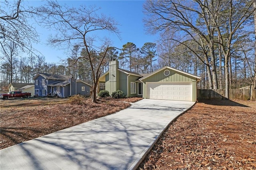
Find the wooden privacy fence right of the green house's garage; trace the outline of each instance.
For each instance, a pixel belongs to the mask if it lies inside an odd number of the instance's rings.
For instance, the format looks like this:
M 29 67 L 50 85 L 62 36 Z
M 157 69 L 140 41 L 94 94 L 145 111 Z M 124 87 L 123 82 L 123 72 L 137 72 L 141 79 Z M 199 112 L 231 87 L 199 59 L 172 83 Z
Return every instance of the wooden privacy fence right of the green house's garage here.
M 224 99 L 225 89 L 197 89 L 198 99 Z M 229 99 L 256 99 L 256 89 L 229 89 Z

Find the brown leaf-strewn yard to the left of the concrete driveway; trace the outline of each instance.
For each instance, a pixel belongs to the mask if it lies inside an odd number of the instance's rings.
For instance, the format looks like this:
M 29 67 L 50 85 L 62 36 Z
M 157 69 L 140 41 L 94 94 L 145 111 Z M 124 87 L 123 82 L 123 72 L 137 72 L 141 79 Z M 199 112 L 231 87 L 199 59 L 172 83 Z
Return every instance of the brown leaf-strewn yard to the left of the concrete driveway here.
M 142 98 L 28 98 L 0 100 L 0 149 L 103 117 Z M 78 104 L 80 102 L 80 104 Z

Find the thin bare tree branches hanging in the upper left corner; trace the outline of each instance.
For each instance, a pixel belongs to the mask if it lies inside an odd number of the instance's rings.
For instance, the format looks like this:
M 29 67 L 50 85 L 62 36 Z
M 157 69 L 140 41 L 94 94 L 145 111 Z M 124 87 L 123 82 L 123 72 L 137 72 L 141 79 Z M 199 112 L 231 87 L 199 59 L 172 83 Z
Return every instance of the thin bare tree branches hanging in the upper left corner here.
M 22 0 L 0 2 L 0 45 L 14 42 L 23 51 L 34 51 L 32 42 L 38 41 L 38 35 L 28 18 L 31 11 L 26 10 Z

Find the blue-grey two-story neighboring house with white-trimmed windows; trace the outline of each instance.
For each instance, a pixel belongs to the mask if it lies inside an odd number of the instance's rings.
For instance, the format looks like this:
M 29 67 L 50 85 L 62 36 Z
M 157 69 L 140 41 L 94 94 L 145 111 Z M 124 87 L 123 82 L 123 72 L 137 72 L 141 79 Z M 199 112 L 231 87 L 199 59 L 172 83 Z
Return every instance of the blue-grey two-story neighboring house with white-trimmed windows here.
M 81 80 L 76 80 L 67 75 L 37 73 L 34 76 L 35 95 L 57 95 L 68 97 L 72 95 L 90 96 L 91 85 Z

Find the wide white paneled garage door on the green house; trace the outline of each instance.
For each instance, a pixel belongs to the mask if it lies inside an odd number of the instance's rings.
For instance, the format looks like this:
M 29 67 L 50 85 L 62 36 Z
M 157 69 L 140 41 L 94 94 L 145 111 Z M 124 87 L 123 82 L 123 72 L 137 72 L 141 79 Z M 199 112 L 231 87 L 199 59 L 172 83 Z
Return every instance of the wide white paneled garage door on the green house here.
M 147 82 L 146 98 L 192 101 L 192 82 Z

